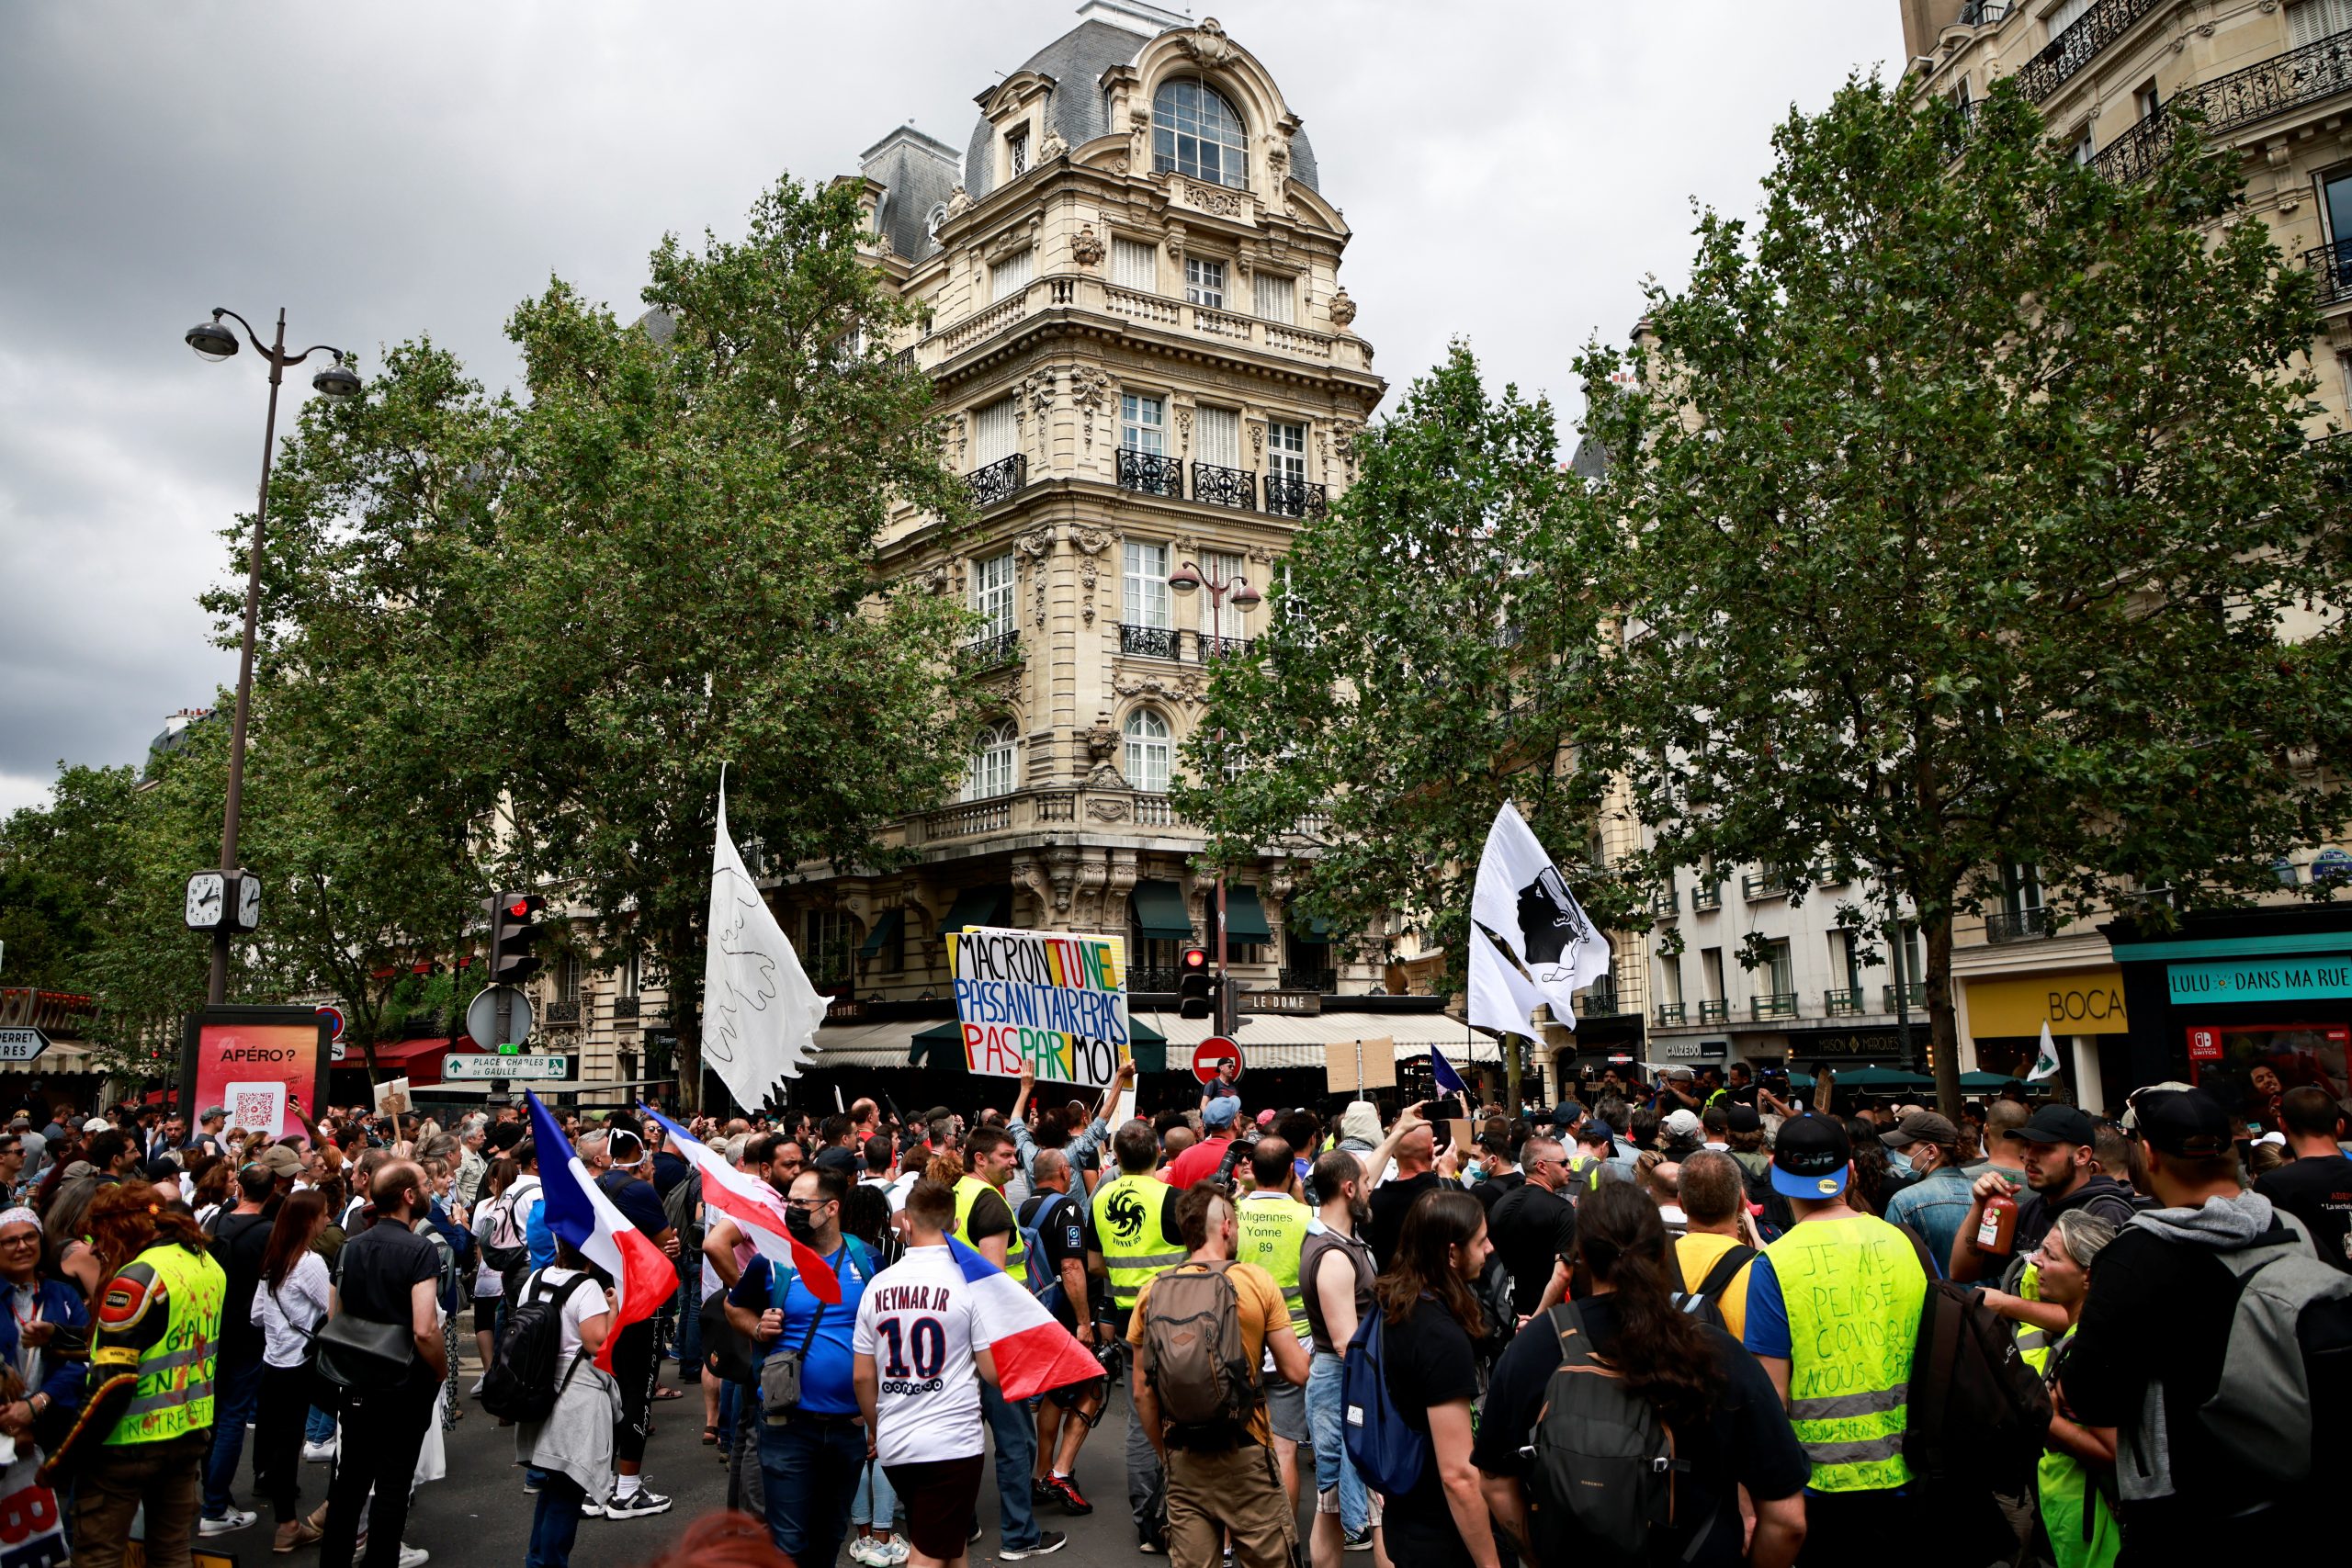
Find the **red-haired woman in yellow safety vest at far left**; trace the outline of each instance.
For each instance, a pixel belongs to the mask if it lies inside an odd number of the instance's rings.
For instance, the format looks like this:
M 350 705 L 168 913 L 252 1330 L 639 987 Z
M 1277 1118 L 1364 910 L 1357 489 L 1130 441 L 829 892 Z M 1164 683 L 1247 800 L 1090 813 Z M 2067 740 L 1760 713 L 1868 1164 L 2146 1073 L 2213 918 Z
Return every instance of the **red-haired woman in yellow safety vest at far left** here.
M 106 1269 L 89 1401 L 42 1481 L 73 1481 L 73 1561 L 120 1568 L 146 1507 L 151 1568 L 188 1568 L 228 1276 L 205 1232 L 146 1182 L 99 1192 L 89 1241 Z

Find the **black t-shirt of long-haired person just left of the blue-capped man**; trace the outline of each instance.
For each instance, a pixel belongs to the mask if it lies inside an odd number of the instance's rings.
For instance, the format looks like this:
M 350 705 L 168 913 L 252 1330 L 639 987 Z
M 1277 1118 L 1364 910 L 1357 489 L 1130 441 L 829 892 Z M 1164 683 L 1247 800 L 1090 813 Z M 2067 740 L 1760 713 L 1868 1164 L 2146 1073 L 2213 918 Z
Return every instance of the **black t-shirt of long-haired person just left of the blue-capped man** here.
M 1616 1302 L 1595 1295 L 1576 1302 L 1585 1333 L 1592 1335 L 1592 1354 L 1606 1356 L 1616 1347 Z M 1651 1542 L 1656 1563 L 1740 1563 L 1740 1502 L 1736 1486 L 1745 1486 L 1750 1497 L 1776 1502 L 1804 1490 L 1813 1467 L 1790 1432 L 1780 1396 L 1771 1387 L 1764 1368 L 1740 1349 L 1722 1328 L 1705 1328 L 1715 1349 L 1715 1361 L 1724 1368 L 1724 1399 L 1712 1420 L 1698 1432 L 1675 1432 L 1675 1458 L 1689 1460 L 1691 1472 L 1675 1481 L 1675 1519 L 1682 1523 L 1663 1542 Z M 1541 1316 L 1519 1331 L 1503 1359 L 1494 1368 L 1486 1389 L 1477 1443 L 1470 1460 L 1489 1476 L 1526 1479 L 1531 1465 L 1519 1458 L 1519 1446 L 1529 1441 L 1543 1413 L 1543 1392 L 1559 1368 L 1559 1331 L 1550 1316 Z M 1684 1556 L 1691 1530 L 1708 1514 L 1708 1542 L 1696 1554 Z

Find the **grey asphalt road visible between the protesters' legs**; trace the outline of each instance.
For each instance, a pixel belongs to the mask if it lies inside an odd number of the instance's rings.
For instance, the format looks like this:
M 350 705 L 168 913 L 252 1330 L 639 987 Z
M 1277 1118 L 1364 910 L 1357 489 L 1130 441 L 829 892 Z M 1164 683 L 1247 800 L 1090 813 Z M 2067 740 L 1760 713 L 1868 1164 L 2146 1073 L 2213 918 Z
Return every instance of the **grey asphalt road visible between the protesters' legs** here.
M 473 1340 L 466 1342 L 466 1363 L 459 1387 L 473 1387 L 480 1375 L 473 1361 Z M 663 1387 L 677 1387 L 677 1368 L 666 1366 Z M 727 1502 L 727 1467 L 720 1448 L 701 1441 L 701 1392 L 684 1387 L 684 1399 L 666 1399 L 654 1406 L 654 1439 L 644 1455 L 644 1479 L 673 1500 L 668 1514 L 652 1519 L 604 1521 L 583 1519 L 579 1542 L 572 1552 L 576 1568 L 640 1568 L 654 1561 L 677 1540 L 677 1535 L 701 1514 Z M 1127 1399 L 1112 1396 L 1103 1422 L 1077 1460 L 1077 1486 L 1094 1502 L 1094 1514 L 1070 1519 L 1056 1507 L 1040 1509 L 1047 1530 L 1063 1530 L 1070 1542 L 1054 1554 L 1056 1563 L 1167 1563 L 1160 1556 L 1136 1552 L 1134 1526 L 1127 1519 Z M 1301 1450 L 1308 1493 L 1301 1509 L 1301 1530 L 1315 1507 L 1312 1458 Z M 327 1467 L 303 1465 L 303 1512 L 327 1500 Z M 261 1519 L 235 1535 L 216 1535 L 200 1542 L 207 1552 L 233 1552 L 238 1568 L 313 1568 L 318 1547 L 303 1547 L 285 1559 L 270 1554 L 268 1505 L 259 1505 L 252 1493 L 252 1441 L 245 1446 L 245 1467 L 238 1476 L 238 1505 L 254 1509 Z M 997 1505 L 995 1474 L 981 1481 L 981 1540 L 971 1547 L 971 1559 L 997 1561 Z M 482 1406 L 466 1401 L 466 1415 L 449 1434 L 449 1476 L 433 1481 L 416 1493 L 409 1509 L 407 1544 L 433 1554 L 433 1568 L 520 1568 L 524 1544 L 532 1533 L 532 1497 L 522 1490 L 522 1469 L 515 1465 L 515 1432 L 499 1427 Z M 1305 1540 L 1305 1535 L 1301 1535 Z M 1037 1561 L 1037 1559 L 1030 1559 Z M 1350 1559 L 1369 1563 L 1371 1559 Z M 849 1563 L 844 1547 L 840 1563 Z M 809 1568 L 809 1566 L 802 1566 Z

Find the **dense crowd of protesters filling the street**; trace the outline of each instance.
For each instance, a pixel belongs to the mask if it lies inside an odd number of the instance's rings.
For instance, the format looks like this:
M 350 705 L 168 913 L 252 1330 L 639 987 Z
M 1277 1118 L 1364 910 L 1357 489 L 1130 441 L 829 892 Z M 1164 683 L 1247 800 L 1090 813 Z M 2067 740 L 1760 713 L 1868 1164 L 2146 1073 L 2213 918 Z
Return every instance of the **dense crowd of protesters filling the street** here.
M 1183 1568 L 1893 1547 L 2074 1568 L 2303 1540 L 2279 1530 L 2317 1526 L 2343 1448 L 2324 1340 L 2352 1321 L 2352 1159 L 2317 1086 L 2279 1095 L 2263 1143 L 2180 1084 L 2122 1119 L 2004 1093 L 1957 1121 L 1738 1065 L 1592 1077 L 1519 1114 L 1249 1107 L 1218 1079 L 1112 1124 L 1033 1088 L 1011 1112 L 694 1119 L 826 1288 L 708 1201 L 661 1121 L 564 1114 L 553 1154 L 675 1260 L 663 1309 L 626 1326 L 548 1227 L 550 1152 L 515 1112 L 296 1105 L 299 1138 L 219 1107 L 193 1128 L 19 1112 L 0 1434 L 38 1474 L 9 1476 L 96 1568 L 134 1516 L 176 1568 L 263 1505 L 278 1554 L 421 1568 L 412 1493 L 445 1432 L 494 1420 L 527 1568 L 564 1568 L 583 1519 L 673 1507 L 644 1455 L 654 1406 L 682 1401 L 729 1507 L 793 1563 L 962 1563 L 983 1523 L 1000 1561 L 1054 1554 L 1049 1521 L 1096 1509 L 1080 1453 L 1117 1422 L 1134 1549 Z M 1007 1399 L 974 1269 L 1033 1291 L 1096 1375 Z M 1926 1458 L 2016 1446 L 1971 1434 L 1983 1389 L 1917 1359 L 1936 1314 L 1994 1324 L 2027 1368 L 2020 1465 Z M 1597 1479 L 1628 1455 L 1649 1479 Z

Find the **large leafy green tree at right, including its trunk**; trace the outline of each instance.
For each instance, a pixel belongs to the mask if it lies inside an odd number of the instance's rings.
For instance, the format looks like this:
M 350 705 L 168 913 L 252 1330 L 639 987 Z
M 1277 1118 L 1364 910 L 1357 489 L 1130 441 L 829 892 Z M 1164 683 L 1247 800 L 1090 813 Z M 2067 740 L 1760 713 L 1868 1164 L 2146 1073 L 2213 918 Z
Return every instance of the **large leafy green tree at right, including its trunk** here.
M 2230 903 L 2343 818 L 2288 766 L 2352 719 L 2303 616 L 2345 590 L 2317 320 L 2192 129 L 2114 186 L 2006 85 L 1964 132 L 1872 80 L 1773 143 L 1757 228 L 1708 214 L 1646 343 L 1581 364 L 1628 458 L 1611 762 L 1653 875 L 1818 865 L 1917 910 L 1950 1105 L 1950 924 L 2004 865 L 2065 914 Z

